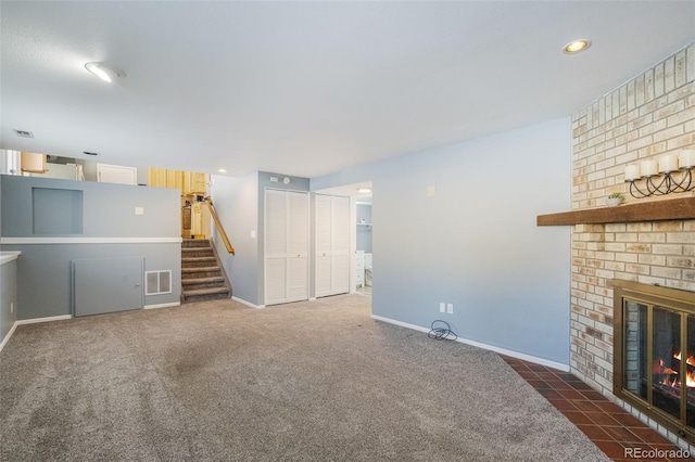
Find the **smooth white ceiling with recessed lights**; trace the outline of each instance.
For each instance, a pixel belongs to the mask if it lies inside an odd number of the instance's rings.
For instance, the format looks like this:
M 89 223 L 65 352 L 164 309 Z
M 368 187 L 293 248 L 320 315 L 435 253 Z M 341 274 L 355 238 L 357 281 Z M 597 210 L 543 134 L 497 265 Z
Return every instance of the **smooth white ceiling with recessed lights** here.
M 693 1 L 3 0 L 0 15 L 0 146 L 232 176 L 315 177 L 567 116 L 695 40 Z M 593 46 L 561 53 L 576 38 Z

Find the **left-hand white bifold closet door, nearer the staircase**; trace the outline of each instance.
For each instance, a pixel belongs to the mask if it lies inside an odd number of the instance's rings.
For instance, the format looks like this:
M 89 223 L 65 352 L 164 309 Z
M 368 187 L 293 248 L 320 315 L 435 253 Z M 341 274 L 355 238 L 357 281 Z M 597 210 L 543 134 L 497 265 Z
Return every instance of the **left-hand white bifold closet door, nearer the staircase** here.
M 308 194 L 265 191 L 265 305 L 308 299 Z

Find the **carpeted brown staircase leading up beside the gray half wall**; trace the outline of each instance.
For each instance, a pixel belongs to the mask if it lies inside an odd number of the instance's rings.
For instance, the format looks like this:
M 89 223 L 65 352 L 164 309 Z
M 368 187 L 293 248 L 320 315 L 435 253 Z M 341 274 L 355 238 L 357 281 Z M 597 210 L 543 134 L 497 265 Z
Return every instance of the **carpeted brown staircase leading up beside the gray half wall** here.
M 184 304 L 231 297 L 231 285 L 210 240 L 184 240 L 181 285 Z

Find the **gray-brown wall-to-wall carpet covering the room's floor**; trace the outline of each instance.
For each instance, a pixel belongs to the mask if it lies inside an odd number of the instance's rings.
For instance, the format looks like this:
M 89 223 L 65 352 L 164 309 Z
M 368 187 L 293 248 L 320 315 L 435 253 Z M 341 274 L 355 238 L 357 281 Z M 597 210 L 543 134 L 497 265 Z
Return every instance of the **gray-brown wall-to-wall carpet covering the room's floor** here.
M 495 354 L 374 321 L 370 301 L 18 326 L 0 460 L 608 460 Z

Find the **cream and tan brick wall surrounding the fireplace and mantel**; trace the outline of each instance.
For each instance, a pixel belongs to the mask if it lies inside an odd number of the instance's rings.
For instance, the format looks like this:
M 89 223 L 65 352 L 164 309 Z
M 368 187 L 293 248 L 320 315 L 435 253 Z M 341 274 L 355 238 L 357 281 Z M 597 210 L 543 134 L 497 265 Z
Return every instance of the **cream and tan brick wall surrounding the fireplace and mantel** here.
M 695 149 L 695 43 L 572 116 L 572 209 L 635 200 L 624 167 Z M 665 202 L 665 207 L 668 203 Z M 572 229 L 572 373 L 612 394 L 612 279 L 695 292 L 695 220 L 577 224 Z

